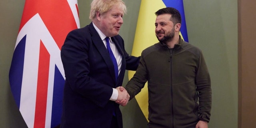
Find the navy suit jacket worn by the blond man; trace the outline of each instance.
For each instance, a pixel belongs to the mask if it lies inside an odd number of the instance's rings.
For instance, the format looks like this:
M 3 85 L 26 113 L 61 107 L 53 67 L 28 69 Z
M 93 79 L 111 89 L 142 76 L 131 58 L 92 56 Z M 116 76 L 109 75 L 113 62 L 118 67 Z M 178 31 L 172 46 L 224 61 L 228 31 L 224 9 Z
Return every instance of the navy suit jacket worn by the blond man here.
M 125 70 L 136 70 L 140 57 L 129 56 L 124 40 L 111 37 L 122 56 L 122 67 L 115 80 L 114 65 L 92 23 L 71 31 L 61 49 L 65 71 L 62 128 L 109 128 L 113 111 L 119 128 L 119 105 L 110 101 L 113 89 L 122 86 Z

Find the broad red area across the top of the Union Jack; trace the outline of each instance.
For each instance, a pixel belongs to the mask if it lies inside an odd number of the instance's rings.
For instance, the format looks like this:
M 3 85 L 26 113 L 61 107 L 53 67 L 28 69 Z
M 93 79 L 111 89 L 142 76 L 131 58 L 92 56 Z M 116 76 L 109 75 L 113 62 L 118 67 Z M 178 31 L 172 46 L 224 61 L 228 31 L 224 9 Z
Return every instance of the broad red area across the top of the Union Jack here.
M 26 0 L 20 22 L 20 30 L 37 13 L 61 49 L 68 32 L 77 28 L 76 20 L 70 10 L 68 1 Z

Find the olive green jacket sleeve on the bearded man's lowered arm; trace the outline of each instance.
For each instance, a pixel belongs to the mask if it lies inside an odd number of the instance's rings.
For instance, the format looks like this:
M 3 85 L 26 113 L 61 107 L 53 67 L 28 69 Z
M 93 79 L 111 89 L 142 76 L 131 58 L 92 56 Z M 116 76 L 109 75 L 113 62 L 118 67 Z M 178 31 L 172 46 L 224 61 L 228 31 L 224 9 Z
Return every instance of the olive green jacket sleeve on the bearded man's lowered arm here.
M 211 80 L 202 53 L 200 54 L 198 65 L 196 72 L 196 90 L 198 91 L 199 97 L 199 120 L 209 122 L 212 107 Z

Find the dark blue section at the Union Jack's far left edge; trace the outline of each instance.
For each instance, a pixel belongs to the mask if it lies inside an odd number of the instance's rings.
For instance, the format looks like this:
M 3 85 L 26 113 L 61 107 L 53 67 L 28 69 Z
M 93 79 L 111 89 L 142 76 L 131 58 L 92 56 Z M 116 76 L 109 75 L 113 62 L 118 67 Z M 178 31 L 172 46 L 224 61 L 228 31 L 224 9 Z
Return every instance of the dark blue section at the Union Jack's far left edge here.
M 9 72 L 10 87 L 12 90 L 14 100 L 19 108 L 24 67 L 25 46 L 26 35 L 22 38 L 22 40 L 20 40 L 20 42 L 18 43 L 14 50 L 12 64 Z

